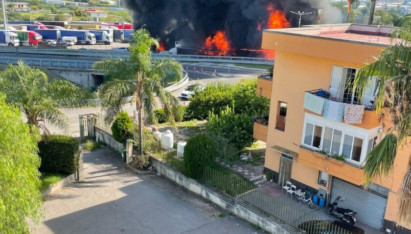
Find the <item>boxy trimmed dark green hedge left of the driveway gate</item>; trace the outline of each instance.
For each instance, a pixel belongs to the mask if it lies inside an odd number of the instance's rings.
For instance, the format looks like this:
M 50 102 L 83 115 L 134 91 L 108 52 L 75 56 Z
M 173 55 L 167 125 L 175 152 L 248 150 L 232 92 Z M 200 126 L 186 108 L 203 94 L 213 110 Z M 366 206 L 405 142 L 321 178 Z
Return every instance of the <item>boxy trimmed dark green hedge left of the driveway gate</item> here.
M 72 174 L 77 169 L 80 142 L 74 137 L 52 135 L 39 142 L 41 172 Z

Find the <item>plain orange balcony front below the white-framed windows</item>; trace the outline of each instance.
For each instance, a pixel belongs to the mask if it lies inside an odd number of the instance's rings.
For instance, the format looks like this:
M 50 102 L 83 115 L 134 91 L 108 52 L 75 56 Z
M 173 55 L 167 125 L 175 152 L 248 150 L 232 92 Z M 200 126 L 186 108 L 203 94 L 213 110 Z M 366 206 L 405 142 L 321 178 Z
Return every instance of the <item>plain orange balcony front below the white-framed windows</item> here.
M 350 183 L 362 185 L 364 170 L 356 165 L 333 159 L 302 146 L 298 152 L 298 162 Z

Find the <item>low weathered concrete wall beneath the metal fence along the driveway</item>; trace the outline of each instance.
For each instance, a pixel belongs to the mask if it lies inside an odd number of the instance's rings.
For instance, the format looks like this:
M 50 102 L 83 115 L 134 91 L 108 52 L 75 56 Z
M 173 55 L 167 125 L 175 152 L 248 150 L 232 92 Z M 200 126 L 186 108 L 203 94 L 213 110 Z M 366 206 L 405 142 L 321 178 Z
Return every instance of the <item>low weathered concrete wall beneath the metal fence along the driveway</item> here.
M 232 212 L 242 219 L 260 226 L 262 229 L 272 234 L 297 234 L 297 232 L 287 228 L 286 226 L 277 223 L 276 221 L 262 214 L 257 213 L 256 211 L 249 208 L 246 204 L 243 204 L 242 202 L 239 202 L 235 199 L 230 200 L 222 195 L 219 195 L 217 192 L 212 191 L 196 180 L 190 179 L 183 174 L 167 167 L 157 159 L 151 158 L 151 164 L 162 176 L 171 179 L 172 181 L 183 186 L 189 191 L 197 195 L 201 195 L 202 197 L 220 206 L 221 208 Z

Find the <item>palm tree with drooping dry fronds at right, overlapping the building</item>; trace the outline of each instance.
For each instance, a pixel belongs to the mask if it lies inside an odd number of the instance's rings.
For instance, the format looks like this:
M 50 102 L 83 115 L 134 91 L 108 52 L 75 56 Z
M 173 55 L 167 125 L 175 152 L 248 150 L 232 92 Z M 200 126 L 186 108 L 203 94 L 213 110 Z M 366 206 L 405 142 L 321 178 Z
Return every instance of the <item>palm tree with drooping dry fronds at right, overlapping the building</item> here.
M 365 64 L 355 79 L 356 89 L 360 90 L 364 90 L 369 77 L 381 79 L 375 104 L 377 112 L 388 116 L 390 121 L 383 125 L 388 130 L 387 135 L 366 158 L 365 186 L 376 176 L 386 176 L 393 171 L 397 149 L 411 134 L 411 16 L 404 17 L 402 28 L 392 35 L 393 45 L 374 58 L 373 63 Z M 397 224 L 410 224 L 411 157 L 398 199 Z

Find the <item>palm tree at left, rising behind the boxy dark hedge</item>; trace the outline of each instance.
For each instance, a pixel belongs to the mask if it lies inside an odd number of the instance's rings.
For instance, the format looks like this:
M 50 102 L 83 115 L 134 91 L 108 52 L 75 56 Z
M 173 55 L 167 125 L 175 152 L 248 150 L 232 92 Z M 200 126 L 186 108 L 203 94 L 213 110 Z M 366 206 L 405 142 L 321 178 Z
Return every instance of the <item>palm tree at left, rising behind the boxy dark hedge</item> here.
M 50 124 L 66 132 L 68 117 L 58 108 L 75 108 L 87 105 L 87 93 L 67 80 L 48 82 L 47 75 L 19 61 L 9 64 L 0 72 L 0 92 L 6 94 L 6 103 L 18 108 L 27 123 L 48 130 L 41 124 Z

